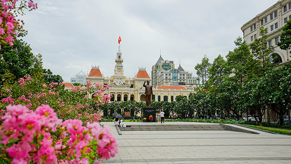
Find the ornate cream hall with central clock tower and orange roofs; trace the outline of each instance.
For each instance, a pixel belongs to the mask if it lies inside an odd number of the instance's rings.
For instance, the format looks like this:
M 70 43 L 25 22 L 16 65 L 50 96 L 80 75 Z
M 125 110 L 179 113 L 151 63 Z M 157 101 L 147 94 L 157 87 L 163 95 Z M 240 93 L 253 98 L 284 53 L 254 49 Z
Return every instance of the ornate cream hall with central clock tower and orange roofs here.
M 92 66 L 86 81 L 93 84 L 99 83 L 109 86 L 104 94 L 112 95 L 111 101 L 128 101 L 135 100 L 137 102 L 146 101 L 145 88 L 143 84 L 145 81 L 151 81 L 146 68 L 139 68 L 137 74 L 133 78 L 124 76 L 123 58 L 120 46 L 116 53 L 114 67 L 114 75 L 111 77 L 104 77 L 101 74 L 99 66 Z M 174 64 L 173 64 L 174 65 Z M 173 66 L 171 65 L 171 66 Z M 174 68 L 174 67 L 173 67 Z M 152 82 L 150 82 L 152 85 Z M 191 93 L 183 86 L 156 86 L 153 87 L 152 99 L 155 101 L 175 101 L 178 95 L 188 97 Z

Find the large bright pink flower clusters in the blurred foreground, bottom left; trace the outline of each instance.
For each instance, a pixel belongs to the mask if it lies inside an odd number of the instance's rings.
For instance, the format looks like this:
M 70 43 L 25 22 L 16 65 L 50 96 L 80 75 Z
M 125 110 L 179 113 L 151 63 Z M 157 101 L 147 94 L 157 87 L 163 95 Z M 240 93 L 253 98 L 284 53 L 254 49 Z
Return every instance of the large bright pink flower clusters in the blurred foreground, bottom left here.
M 118 152 L 108 127 L 101 128 L 97 122 L 82 126 L 77 119 L 63 122 L 53 111 L 49 105 L 35 111 L 24 105 L 8 105 L 0 130 L 4 159 L 12 164 L 88 164 L 86 155 L 90 153 L 99 164 L 99 159 L 107 160 Z M 51 135 L 53 132 L 58 135 Z

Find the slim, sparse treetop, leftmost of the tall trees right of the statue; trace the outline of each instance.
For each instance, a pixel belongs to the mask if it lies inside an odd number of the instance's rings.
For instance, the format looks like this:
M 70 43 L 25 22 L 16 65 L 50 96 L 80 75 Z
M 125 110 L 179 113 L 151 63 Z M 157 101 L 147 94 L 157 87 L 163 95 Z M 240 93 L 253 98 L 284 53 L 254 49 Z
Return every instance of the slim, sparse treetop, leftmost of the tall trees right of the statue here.
M 195 66 L 195 70 L 197 71 L 197 76 L 199 80 L 202 80 L 202 83 L 207 85 L 207 81 L 209 78 L 209 68 L 210 68 L 209 59 L 206 55 L 202 58 L 201 64 L 197 64 Z

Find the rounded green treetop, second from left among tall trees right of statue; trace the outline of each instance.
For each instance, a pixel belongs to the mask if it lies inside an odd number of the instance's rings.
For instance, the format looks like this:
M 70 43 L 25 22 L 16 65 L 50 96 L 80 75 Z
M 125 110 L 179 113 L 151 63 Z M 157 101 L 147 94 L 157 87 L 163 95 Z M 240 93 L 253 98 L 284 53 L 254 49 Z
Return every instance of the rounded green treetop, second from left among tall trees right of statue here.
M 218 86 L 229 75 L 229 68 L 221 55 L 214 59 L 209 68 L 209 85 Z

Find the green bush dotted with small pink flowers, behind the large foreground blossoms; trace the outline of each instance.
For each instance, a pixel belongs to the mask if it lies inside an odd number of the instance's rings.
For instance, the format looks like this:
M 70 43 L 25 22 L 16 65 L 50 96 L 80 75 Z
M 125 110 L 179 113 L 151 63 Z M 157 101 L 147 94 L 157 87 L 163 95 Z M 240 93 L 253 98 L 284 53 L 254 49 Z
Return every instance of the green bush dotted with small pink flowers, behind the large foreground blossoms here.
M 102 95 L 106 89 L 109 89 L 107 85 L 93 86 L 87 82 L 84 87 L 76 86 L 68 91 L 61 83 L 46 84 L 25 76 L 15 84 L 0 88 L 0 110 L 5 113 L 5 107 L 9 104 L 23 104 L 30 110 L 48 104 L 55 109 L 58 118 L 80 119 L 86 125 L 87 122 L 92 123 L 101 119 L 100 114 L 94 109 L 104 102 L 109 102 L 110 96 Z M 90 98 L 90 95 L 93 95 L 93 98 Z

